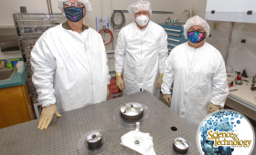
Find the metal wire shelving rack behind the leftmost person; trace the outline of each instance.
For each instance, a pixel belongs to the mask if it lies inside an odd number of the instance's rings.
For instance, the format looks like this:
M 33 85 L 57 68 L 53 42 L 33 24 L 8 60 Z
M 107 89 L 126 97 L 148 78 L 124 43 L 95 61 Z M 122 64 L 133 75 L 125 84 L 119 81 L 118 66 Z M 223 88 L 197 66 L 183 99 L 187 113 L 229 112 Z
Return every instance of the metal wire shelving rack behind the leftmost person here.
M 30 90 L 29 96 L 32 98 L 33 104 L 38 105 L 37 90 L 32 82 L 33 72 L 30 65 L 30 53 L 35 46 L 37 39 L 47 31 L 48 28 L 58 26 L 66 20 L 62 14 L 13 14 L 13 18 L 22 57 L 29 67 L 29 74 L 27 77 Z M 38 109 L 36 107 L 35 110 L 37 113 Z

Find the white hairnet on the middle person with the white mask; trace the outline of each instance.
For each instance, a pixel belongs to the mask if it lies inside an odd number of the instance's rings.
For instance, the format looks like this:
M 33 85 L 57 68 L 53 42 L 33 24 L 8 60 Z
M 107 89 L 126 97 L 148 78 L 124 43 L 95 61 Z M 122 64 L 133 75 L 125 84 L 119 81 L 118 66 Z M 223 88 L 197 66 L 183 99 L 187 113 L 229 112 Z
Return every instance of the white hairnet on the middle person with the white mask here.
M 152 14 L 151 5 L 148 1 L 139 0 L 132 5 L 129 5 L 127 9 L 129 14 L 132 15 L 133 19 L 135 18 L 134 14 L 141 10 L 147 10 L 150 15 Z

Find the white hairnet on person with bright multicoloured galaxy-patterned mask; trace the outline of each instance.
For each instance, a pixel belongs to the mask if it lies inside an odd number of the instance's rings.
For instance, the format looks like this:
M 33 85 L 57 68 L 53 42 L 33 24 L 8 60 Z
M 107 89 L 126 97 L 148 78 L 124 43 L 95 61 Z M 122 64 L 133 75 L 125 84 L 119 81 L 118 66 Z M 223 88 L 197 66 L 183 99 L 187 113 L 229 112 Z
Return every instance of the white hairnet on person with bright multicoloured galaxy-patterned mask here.
M 188 19 L 186 24 L 184 25 L 184 36 L 186 39 L 187 39 L 187 31 L 191 26 L 201 26 L 206 31 L 207 36 L 209 36 L 210 27 L 208 23 L 200 16 L 195 15 L 190 19 Z

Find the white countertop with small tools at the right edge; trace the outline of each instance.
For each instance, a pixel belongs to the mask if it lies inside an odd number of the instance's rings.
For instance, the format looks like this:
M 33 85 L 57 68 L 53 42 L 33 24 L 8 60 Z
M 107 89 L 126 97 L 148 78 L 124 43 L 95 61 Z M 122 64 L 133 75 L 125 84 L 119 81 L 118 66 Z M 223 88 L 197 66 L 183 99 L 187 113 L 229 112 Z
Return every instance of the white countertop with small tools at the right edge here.
M 228 73 L 229 82 L 237 77 L 236 73 Z M 251 78 L 244 78 L 249 81 L 249 83 L 243 81 L 242 85 L 235 85 L 235 87 L 229 88 L 229 98 L 233 99 L 240 104 L 253 109 L 256 111 L 256 91 L 251 91 Z M 233 89 L 238 89 L 236 91 L 230 91 Z

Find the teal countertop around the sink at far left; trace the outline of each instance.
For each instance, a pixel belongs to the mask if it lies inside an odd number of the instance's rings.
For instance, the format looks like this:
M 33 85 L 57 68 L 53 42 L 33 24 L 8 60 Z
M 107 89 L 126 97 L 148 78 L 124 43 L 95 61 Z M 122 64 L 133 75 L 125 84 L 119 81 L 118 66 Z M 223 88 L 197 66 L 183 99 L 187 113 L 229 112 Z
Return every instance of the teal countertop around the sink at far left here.
M 12 79 L 0 81 L 0 88 L 10 88 L 10 87 L 24 85 L 27 80 L 28 72 L 29 71 L 28 71 L 27 64 L 25 64 L 20 73 L 18 73 L 16 70 L 16 73 Z

